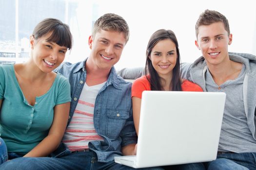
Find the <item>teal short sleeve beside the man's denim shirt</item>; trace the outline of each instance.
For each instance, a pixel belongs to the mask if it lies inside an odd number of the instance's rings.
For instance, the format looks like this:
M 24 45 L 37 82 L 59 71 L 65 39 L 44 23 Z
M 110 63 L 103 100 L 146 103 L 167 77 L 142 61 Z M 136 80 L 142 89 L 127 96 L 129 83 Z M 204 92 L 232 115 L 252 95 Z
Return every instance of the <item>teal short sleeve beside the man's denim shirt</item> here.
M 61 81 L 61 85 L 59 85 L 56 105 L 71 102 L 70 84 L 66 78 L 61 77 L 64 81 Z

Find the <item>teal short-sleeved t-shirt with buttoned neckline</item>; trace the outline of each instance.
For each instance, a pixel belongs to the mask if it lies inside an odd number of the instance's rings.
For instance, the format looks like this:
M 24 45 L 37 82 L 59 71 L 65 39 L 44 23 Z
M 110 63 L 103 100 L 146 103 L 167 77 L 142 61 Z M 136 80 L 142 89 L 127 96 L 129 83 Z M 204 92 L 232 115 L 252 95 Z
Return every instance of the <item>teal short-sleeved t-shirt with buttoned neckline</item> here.
M 32 106 L 21 91 L 14 64 L 3 64 L 0 65 L 0 100 L 0 136 L 9 153 L 26 154 L 48 135 L 54 107 L 71 101 L 70 84 L 58 73 L 51 88 L 36 97 Z

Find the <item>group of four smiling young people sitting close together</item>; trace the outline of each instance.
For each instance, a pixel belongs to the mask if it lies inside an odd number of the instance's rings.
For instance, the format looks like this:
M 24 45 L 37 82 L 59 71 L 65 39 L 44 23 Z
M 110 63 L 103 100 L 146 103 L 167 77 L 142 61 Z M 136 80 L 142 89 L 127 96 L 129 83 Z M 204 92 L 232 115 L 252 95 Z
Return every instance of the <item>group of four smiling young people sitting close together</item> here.
M 226 93 L 219 152 L 212 162 L 145 169 L 255 170 L 256 57 L 228 52 L 232 34 L 217 11 L 199 16 L 196 35 L 202 56 L 193 64 L 180 64 L 176 35 L 158 30 L 146 49 L 146 75 L 140 68 L 117 73 L 129 39 L 122 17 L 97 19 L 91 53 L 76 64 L 61 64 L 72 47 L 69 27 L 41 21 L 30 37 L 31 58 L 0 65 L 0 169 L 132 170 L 114 156 L 136 154 L 142 91 L 165 90 Z M 142 77 L 132 85 L 118 74 Z

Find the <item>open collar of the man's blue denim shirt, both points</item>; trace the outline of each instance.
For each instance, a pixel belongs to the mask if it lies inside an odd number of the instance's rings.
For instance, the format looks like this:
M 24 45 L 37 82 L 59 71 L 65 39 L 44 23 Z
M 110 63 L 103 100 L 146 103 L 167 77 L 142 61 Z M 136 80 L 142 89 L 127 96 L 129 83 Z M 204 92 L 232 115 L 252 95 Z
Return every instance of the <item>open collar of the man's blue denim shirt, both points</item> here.
M 88 58 L 86 58 L 83 62 L 81 62 L 79 64 L 79 66 L 73 71 L 73 73 L 77 73 L 79 72 L 81 69 L 82 71 L 85 71 L 86 73 L 86 69 L 85 69 L 85 63 L 87 61 Z M 109 76 L 108 76 L 108 80 L 106 82 L 106 87 L 109 85 L 113 85 L 115 88 L 117 89 L 121 89 L 122 87 L 119 85 L 119 79 L 118 79 L 118 75 L 117 75 L 117 71 L 114 68 L 114 66 L 111 68 Z

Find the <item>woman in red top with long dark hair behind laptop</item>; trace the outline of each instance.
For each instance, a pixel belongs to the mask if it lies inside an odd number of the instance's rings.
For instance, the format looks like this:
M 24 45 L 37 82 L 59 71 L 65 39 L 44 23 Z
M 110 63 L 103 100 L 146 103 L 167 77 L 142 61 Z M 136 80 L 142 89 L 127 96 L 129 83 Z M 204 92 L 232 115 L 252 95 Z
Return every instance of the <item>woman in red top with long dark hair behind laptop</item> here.
M 138 134 L 141 95 L 144 90 L 203 91 L 180 78 L 180 56 L 176 35 L 171 30 L 158 30 L 149 39 L 146 51 L 146 75 L 132 86 L 133 119 Z

